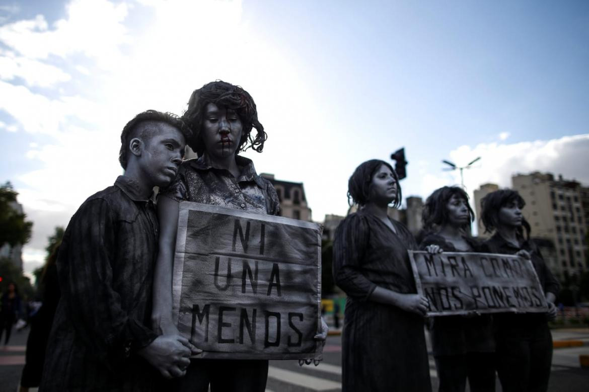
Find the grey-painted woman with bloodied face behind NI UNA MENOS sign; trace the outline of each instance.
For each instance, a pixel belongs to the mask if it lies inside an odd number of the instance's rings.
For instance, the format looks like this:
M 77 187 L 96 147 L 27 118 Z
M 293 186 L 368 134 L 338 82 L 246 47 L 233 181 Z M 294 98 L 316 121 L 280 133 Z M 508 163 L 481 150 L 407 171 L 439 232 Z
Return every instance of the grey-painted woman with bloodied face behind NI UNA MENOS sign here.
M 203 204 L 276 215 L 280 204 L 270 181 L 260 177 L 253 162 L 237 152 L 262 152 L 266 132 L 257 119 L 252 96 L 239 86 L 216 81 L 193 92 L 183 119 L 193 130 L 188 145 L 198 159 L 184 161 L 170 187 L 160 192 L 160 251 L 154 278 L 156 327 L 178 333 L 172 320 L 172 266 L 178 224 L 178 202 Z M 252 135 L 256 128 L 256 136 Z M 252 391 L 266 389 L 267 360 L 191 360 L 178 391 Z

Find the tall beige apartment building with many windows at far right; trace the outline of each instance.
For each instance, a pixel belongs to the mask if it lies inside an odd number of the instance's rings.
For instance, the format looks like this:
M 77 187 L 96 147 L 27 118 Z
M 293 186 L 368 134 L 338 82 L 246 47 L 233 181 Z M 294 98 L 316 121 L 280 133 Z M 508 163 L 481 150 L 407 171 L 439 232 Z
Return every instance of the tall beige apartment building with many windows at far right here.
M 557 262 L 549 264 L 552 271 L 562 277 L 587 270 L 587 222 L 581 184 L 540 172 L 517 174 L 511 180 L 513 189 L 526 202 L 522 212 L 530 222 L 532 235 L 554 244 Z

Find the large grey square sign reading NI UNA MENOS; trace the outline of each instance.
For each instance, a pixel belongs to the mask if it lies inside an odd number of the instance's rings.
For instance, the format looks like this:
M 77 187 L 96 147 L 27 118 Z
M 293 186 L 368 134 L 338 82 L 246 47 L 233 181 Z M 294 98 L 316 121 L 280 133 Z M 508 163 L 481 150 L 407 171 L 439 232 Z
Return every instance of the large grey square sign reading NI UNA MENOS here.
M 320 354 L 320 225 L 180 202 L 173 301 L 199 357 Z

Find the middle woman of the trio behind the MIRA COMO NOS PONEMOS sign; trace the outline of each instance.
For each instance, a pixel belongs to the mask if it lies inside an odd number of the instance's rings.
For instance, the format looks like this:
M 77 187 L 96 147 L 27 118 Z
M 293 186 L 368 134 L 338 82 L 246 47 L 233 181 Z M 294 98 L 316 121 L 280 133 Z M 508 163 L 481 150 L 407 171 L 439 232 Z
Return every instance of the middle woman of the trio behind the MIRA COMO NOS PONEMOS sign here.
M 477 252 L 481 244 L 469 234 L 474 212 L 460 187 L 435 190 L 423 206 L 428 234 L 420 248 L 445 252 Z M 432 350 L 438 370 L 439 391 L 495 391 L 495 364 L 491 315 L 445 315 L 431 321 Z

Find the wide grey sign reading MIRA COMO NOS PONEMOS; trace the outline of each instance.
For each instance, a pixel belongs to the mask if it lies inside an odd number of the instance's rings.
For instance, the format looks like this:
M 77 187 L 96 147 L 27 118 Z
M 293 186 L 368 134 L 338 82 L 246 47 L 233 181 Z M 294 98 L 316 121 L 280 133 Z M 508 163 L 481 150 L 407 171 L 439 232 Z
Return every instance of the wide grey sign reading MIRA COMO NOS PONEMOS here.
M 530 260 L 491 253 L 429 254 L 409 251 L 418 293 L 428 315 L 547 311 Z

